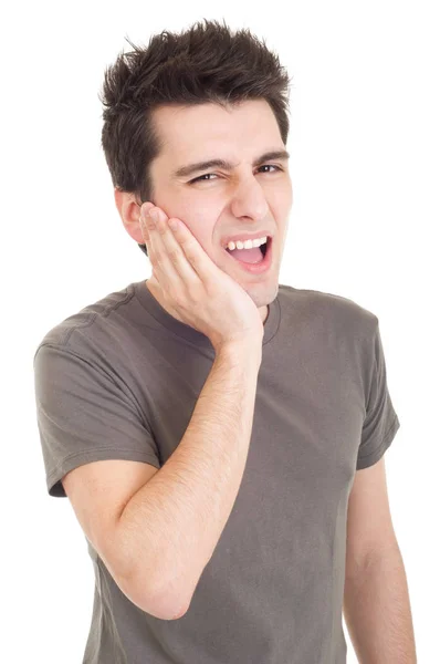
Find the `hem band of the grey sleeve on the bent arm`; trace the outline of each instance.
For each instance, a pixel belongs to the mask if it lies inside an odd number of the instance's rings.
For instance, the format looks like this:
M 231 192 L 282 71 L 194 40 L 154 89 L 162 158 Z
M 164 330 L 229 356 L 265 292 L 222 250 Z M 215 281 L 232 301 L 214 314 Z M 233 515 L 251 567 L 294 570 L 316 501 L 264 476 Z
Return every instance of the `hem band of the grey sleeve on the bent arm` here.
M 122 449 L 122 448 L 112 448 L 112 447 L 101 447 L 94 448 L 91 450 L 82 450 L 76 452 L 75 454 L 71 454 L 65 457 L 61 464 L 54 468 L 46 478 L 48 491 L 50 496 L 54 496 L 56 498 L 66 498 L 66 494 L 64 491 L 61 479 L 78 466 L 84 464 L 88 464 L 92 461 L 103 461 L 107 459 L 122 459 L 122 460 L 130 460 L 130 461 L 145 461 L 147 464 L 151 464 L 155 468 L 160 468 L 160 464 L 157 457 L 149 453 L 148 450 L 140 449 Z

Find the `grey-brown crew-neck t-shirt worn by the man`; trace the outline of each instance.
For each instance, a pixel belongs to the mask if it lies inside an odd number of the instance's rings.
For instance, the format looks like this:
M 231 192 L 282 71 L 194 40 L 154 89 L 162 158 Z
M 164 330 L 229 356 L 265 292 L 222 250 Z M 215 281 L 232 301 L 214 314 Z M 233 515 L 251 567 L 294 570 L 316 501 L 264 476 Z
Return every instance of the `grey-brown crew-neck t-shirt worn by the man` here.
M 34 356 L 50 496 L 101 459 L 161 468 L 181 440 L 214 351 L 146 281 L 50 330 Z M 95 573 L 84 664 L 346 664 L 347 501 L 400 424 L 378 318 L 353 300 L 279 284 L 262 340 L 252 433 L 230 517 L 188 611 L 161 620 Z M 166 499 L 166 498 L 165 498 Z

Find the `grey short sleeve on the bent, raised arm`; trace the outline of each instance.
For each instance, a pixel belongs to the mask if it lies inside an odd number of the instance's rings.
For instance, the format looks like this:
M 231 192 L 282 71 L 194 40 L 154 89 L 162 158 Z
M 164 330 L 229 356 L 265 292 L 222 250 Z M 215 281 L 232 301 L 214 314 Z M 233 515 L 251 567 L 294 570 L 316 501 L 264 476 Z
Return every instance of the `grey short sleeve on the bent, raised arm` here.
M 154 437 L 129 392 L 95 362 L 64 346 L 41 345 L 33 360 L 36 421 L 46 488 L 91 461 L 127 459 L 160 467 Z

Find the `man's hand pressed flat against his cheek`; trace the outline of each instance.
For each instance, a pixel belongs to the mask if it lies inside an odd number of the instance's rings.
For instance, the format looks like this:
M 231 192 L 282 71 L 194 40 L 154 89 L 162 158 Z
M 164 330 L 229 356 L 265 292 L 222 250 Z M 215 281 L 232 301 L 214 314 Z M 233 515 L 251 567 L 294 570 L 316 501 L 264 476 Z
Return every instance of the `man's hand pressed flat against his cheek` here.
M 151 210 L 158 212 L 156 224 Z M 176 221 L 177 228 L 170 228 L 169 221 Z M 169 219 L 147 203 L 140 208 L 140 229 L 153 276 L 185 323 L 208 336 L 216 352 L 250 338 L 261 343 L 264 326 L 255 303 L 216 266 L 181 219 Z

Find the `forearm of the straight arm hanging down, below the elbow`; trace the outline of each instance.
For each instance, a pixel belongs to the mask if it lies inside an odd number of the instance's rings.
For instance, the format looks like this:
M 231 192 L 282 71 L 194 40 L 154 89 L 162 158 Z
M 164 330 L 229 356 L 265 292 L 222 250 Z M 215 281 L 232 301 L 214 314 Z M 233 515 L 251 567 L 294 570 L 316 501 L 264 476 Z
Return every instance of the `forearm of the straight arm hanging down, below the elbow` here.
M 344 618 L 359 664 L 416 664 L 404 560 L 398 544 L 346 578 Z

